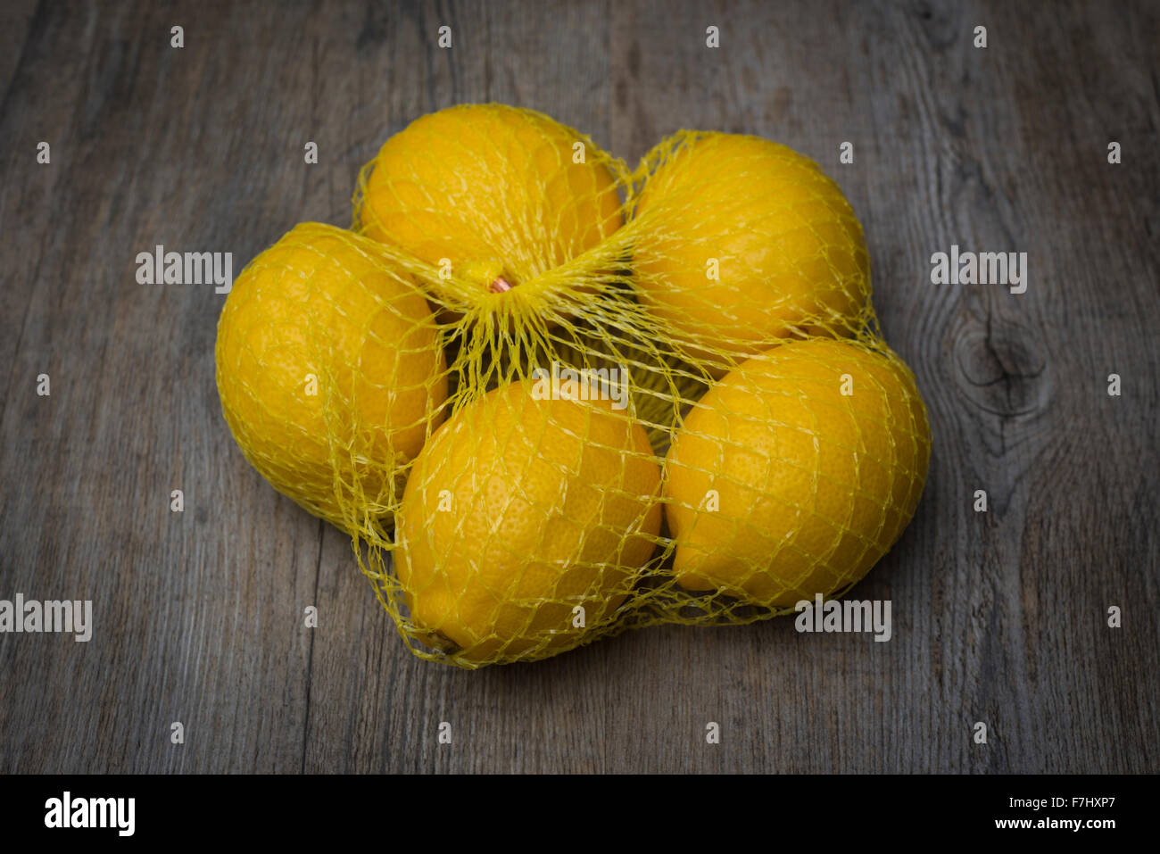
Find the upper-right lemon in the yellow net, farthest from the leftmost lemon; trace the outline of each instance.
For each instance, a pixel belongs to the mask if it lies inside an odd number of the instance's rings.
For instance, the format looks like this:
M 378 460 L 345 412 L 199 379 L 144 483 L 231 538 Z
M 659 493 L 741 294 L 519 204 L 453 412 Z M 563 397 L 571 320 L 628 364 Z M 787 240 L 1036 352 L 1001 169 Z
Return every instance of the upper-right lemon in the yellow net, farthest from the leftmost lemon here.
M 636 287 L 694 356 L 719 356 L 715 376 L 780 338 L 861 325 L 870 256 L 849 202 L 818 164 L 716 132 L 661 159 L 636 207 Z

